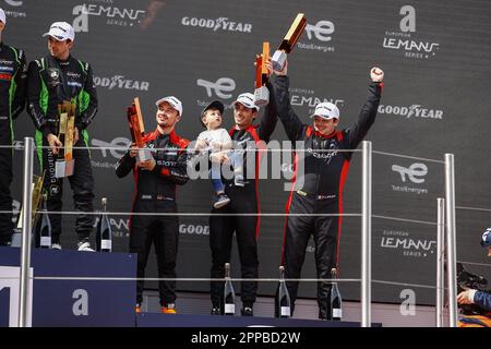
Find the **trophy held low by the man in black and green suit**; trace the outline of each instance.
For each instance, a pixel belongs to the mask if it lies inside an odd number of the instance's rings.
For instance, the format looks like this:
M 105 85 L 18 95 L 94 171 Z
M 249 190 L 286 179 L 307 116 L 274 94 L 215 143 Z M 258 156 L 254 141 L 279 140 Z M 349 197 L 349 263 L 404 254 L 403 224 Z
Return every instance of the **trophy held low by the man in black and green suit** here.
M 55 164 L 55 177 L 63 178 L 73 174 L 75 160 L 73 159 L 73 139 L 75 135 L 75 103 L 63 100 L 58 105 L 60 121 L 58 140 L 63 144 Z

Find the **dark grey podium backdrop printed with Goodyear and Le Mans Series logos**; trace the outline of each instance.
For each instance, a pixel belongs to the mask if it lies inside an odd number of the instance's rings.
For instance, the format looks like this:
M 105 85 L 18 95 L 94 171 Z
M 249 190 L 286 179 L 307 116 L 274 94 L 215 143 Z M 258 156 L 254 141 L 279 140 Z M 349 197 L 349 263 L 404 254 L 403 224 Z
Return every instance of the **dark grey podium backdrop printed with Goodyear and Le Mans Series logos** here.
M 491 207 L 490 110 L 491 3 L 480 0 L 393 1 L 212 1 L 212 0 L 44 0 L 0 1 L 8 23 L 2 39 L 26 51 L 27 60 L 47 55 L 41 34 L 51 22 L 73 23 L 74 57 L 92 63 L 99 111 L 89 128 L 91 145 L 125 146 L 129 130 L 125 107 L 140 97 L 147 131 L 155 127 L 155 100 L 175 95 L 183 103 L 177 127 L 194 140 L 202 127 L 199 113 L 212 99 L 227 105 L 225 127 L 232 125 L 231 103 L 252 92 L 254 58 L 267 40 L 276 48 L 298 12 L 308 27 L 289 57 L 291 101 L 304 122 L 318 101 L 340 109 L 347 128 L 364 103 L 370 68 L 385 71 L 385 91 L 376 122 L 367 140 L 373 149 L 443 160 L 455 154 L 458 206 Z M 24 112 L 14 123 L 15 140 L 34 135 Z M 273 140 L 286 140 L 278 122 Z M 113 167 L 122 151 L 94 149 L 96 207 L 101 196 L 108 210 L 129 212 L 133 179 L 117 179 Z M 361 212 L 361 156 L 356 154 L 344 195 L 345 213 Z M 21 200 L 22 153 L 15 152 L 15 207 Z M 291 173 L 284 163 L 284 174 Z M 373 214 L 436 221 L 436 197 L 444 194 L 444 167 L 434 161 L 373 155 Z M 263 213 L 284 213 L 285 179 L 260 184 Z M 65 181 L 64 209 L 73 209 Z M 190 181 L 178 193 L 181 213 L 208 213 L 212 186 Z M 115 246 L 128 251 L 128 216 L 113 216 Z M 206 216 L 181 217 L 179 277 L 207 277 L 211 252 Z M 260 276 L 277 277 L 284 217 L 261 220 Z M 340 238 L 340 277 L 360 277 L 360 217 L 344 218 Z M 487 262 L 479 237 L 489 214 L 457 213 L 457 253 L 462 261 Z M 63 217 L 63 248 L 75 245 L 74 216 Z M 373 273 L 378 280 L 435 284 L 436 226 L 386 218 L 373 219 Z M 303 277 L 315 276 L 313 242 L 309 244 Z M 233 276 L 240 276 L 237 250 Z M 149 261 L 148 276 L 155 276 Z M 273 294 L 276 285 L 261 285 Z M 178 282 L 180 290 L 207 291 L 207 282 Z M 375 284 L 375 301 L 400 301 L 408 287 Z M 300 296 L 315 297 L 304 284 Z M 359 299 L 357 284 L 344 284 L 345 299 Z M 415 288 L 417 303 L 434 302 L 434 290 Z

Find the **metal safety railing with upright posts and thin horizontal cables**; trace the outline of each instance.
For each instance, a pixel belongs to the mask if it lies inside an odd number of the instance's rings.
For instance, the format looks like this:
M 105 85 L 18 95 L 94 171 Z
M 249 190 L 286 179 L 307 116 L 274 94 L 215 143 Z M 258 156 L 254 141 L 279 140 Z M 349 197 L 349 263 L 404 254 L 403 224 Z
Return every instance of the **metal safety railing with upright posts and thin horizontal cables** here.
M 33 153 L 34 141 L 31 137 L 24 139 L 24 178 L 23 178 L 23 203 L 25 213 L 23 215 L 23 234 L 22 234 L 22 255 L 21 255 L 21 287 L 20 287 L 20 305 L 19 305 L 19 326 L 24 327 L 27 325 L 27 299 L 29 292 L 29 264 L 31 264 L 31 207 L 32 207 L 32 186 L 33 181 Z M 436 327 L 444 326 L 443 308 L 444 308 L 444 266 L 445 254 L 447 255 L 447 290 L 448 290 L 448 309 L 450 309 L 450 326 L 455 327 L 457 325 L 457 304 L 456 304 L 456 216 L 455 216 L 455 174 L 454 174 L 454 156 L 453 154 L 445 154 L 444 161 L 432 160 L 434 163 L 444 164 L 445 173 L 445 198 L 438 198 L 438 221 L 436 224 L 424 220 L 406 219 L 398 217 L 378 216 L 372 214 L 372 153 L 379 153 L 382 155 L 402 156 L 398 154 L 390 154 L 382 152 L 373 152 L 371 142 L 362 142 L 362 195 L 361 195 L 361 215 L 359 214 L 346 214 L 346 216 L 361 216 L 361 278 L 360 279 L 336 279 L 336 281 L 356 281 L 361 282 L 361 325 L 369 327 L 372 323 L 371 314 L 371 287 L 373 282 L 387 284 L 387 285 L 411 285 L 403 282 L 391 282 L 383 280 L 373 280 L 372 268 L 372 217 L 392 220 L 410 221 L 424 225 L 436 225 L 436 282 L 434 286 L 414 285 L 417 287 L 434 288 L 436 293 L 436 306 L 435 306 L 435 325 Z M 406 156 L 403 156 L 406 157 Z M 409 157 L 418 159 L 417 157 Z M 431 160 L 431 159 L 427 159 Z M 464 207 L 469 208 L 469 207 Z M 60 213 L 57 213 L 60 214 Z M 64 212 L 63 214 L 76 214 Z M 131 213 L 109 213 L 109 214 L 131 214 Z M 144 214 L 143 214 L 144 215 Z M 148 213 L 152 215 L 152 213 Z M 173 215 L 173 214 L 172 214 Z M 208 213 L 182 213 L 184 215 L 206 215 Z M 286 214 L 262 214 L 264 216 L 285 216 Z M 39 277 L 38 279 L 43 279 Z M 46 279 L 46 277 L 45 277 Z M 63 278 L 58 278 L 63 279 Z M 75 278 L 70 278 L 75 279 Z M 83 278 L 82 278 L 83 279 Z M 88 278 L 96 279 L 96 278 Z M 117 280 L 118 278 L 112 278 Z M 119 278 L 121 279 L 121 278 Z M 127 278 L 124 278 L 127 279 Z M 136 278 L 132 278 L 136 279 Z M 161 280 L 161 278 L 145 278 L 145 280 Z M 176 278 L 175 280 L 187 281 L 209 281 L 211 278 Z M 235 281 L 243 279 L 233 278 Z M 251 279 L 247 279 L 251 280 Z M 277 278 L 258 278 L 258 281 L 278 281 Z M 292 280 L 292 279 L 289 279 Z M 302 281 L 333 281 L 332 279 L 299 279 Z

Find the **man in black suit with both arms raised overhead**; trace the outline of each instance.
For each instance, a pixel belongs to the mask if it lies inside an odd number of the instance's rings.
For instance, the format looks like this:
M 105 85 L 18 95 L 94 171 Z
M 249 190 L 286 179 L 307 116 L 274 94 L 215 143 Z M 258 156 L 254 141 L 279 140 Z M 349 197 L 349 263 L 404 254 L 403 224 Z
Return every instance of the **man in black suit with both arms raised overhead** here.
M 338 244 L 343 214 L 343 186 L 348 174 L 352 152 L 363 140 L 375 121 L 383 88 L 383 72 L 373 68 L 369 96 L 358 120 L 349 129 L 337 131 L 338 108 L 331 103 L 320 103 L 312 116 L 313 125 L 303 124 L 291 109 L 287 67 L 275 72 L 274 81 L 278 118 L 285 127 L 288 139 L 296 149 L 296 185 L 287 202 L 287 218 L 282 250 L 282 265 L 286 278 L 300 278 L 306 256 L 306 248 L 311 234 L 315 244 L 318 278 L 331 278 L 331 269 L 338 267 Z M 301 154 L 299 143 L 303 145 Z M 303 155 L 302 161 L 299 158 Z M 302 178 L 297 178 L 299 166 L 303 166 Z M 301 186 L 301 183 L 303 184 Z M 300 184 L 300 185 L 299 185 Z M 291 216 L 288 216 L 290 215 Z M 321 214 L 321 215 L 319 215 Z M 326 214 L 326 216 L 322 216 Z M 334 216 L 333 216 L 334 215 Z M 338 215 L 338 216 L 336 216 Z M 290 294 L 291 313 L 297 299 L 298 281 L 287 282 Z M 319 317 L 328 318 L 330 282 L 318 284 Z M 277 302 L 276 316 L 278 316 Z

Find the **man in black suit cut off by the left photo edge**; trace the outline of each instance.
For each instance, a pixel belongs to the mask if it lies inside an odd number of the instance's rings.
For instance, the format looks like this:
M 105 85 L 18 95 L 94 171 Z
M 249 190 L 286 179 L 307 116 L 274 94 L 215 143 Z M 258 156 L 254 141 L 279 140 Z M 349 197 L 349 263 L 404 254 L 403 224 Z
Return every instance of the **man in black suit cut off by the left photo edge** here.
M 1 40 L 5 27 L 5 13 L 0 9 L 0 146 L 13 144 L 12 121 L 25 106 L 27 67 L 24 51 L 7 46 Z M 0 148 L 0 210 L 12 212 L 12 155 L 13 149 Z M 0 245 L 9 245 L 13 233 L 12 213 L 0 214 Z

